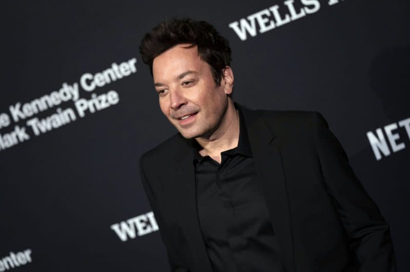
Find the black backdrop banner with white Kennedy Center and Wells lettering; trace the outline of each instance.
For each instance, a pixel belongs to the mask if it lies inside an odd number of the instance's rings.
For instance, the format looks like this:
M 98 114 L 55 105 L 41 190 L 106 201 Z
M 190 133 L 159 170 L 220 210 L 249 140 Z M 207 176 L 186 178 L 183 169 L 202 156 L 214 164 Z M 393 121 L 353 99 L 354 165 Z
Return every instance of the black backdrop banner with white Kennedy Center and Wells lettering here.
M 176 130 L 139 42 L 161 20 L 230 40 L 234 100 L 317 110 L 410 271 L 407 1 L 3 3 L 0 271 L 168 271 L 139 156 Z M 166 164 L 167 158 L 158 162 Z

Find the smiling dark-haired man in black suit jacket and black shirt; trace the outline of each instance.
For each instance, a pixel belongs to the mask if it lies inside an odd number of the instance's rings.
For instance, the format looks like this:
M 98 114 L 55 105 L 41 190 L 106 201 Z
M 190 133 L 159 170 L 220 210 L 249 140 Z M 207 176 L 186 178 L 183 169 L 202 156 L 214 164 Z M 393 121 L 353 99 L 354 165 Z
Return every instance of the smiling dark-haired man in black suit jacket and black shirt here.
M 229 42 L 204 21 L 140 44 L 179 133 L 140 158 L 172 271 L 395 271 L 389 226 L 318 112 L 232 100 Z

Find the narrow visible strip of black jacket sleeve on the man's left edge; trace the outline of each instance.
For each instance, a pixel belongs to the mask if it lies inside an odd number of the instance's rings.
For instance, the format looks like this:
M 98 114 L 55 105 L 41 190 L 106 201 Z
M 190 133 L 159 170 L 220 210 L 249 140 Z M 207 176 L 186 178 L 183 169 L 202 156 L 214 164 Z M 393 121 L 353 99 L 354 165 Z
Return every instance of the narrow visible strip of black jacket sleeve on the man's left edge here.
M 187 268 L 182 267 L 177 264 L 176 257 L 175 256 L 175 249 L 173 250 L 171 244 L 169 243 L 166 235 L 166 230 L 164 229 L 164 224 L 163 224 L 163 219 L 160 211 L 158 210 L 157 207 L 157 201 L 155 199 L 154 192 L 147 180 L 147 175 L 144 169 L 144 155 L 142 155 L 139 159 L 139 173 L 140 173 L 140 178 L 141 178 L 141 183 L 142 187 L 144 187 L 144 190 L 147 194 L 148 201 L 150 203 L 152 212 L 154 213 L 155 220 L 158 224 L 158 229 L 159 229 L 159 234 L 161 236 L 162 242 L 164 243 L 166 250 L 167 250 L 167 257 L 168 257 L 168 263 L 170 266 L 170 271 L 171 272 L 190 272 Z

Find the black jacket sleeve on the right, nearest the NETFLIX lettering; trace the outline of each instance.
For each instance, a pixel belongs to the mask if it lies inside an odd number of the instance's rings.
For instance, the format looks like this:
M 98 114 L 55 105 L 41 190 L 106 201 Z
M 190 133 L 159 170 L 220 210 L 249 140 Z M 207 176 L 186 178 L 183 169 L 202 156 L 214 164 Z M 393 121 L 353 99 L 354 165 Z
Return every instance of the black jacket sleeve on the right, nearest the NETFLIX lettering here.
M 351 248 L 359 272 L 394 272 L 396 260 L 387 222 L 348 163 L 341 144 L 319 112 L 313 112 L 313 131 L 321 172 Z

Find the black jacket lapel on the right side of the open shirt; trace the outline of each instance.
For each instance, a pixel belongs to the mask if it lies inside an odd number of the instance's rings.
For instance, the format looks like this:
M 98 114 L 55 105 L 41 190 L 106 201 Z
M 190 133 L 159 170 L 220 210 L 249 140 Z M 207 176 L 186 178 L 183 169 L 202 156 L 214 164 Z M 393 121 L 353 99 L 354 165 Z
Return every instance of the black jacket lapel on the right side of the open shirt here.
M 258 181 L 271 214 L 275 236 L 282 250 L 279 254 L 281 254 L 287 270 L 294 272 L 288 194 L 280 148 L 274 144 L 276 135 L 257 111 L 243 107 L 240 109 L 247 124 L 249 141 L 258 172 Z

